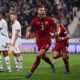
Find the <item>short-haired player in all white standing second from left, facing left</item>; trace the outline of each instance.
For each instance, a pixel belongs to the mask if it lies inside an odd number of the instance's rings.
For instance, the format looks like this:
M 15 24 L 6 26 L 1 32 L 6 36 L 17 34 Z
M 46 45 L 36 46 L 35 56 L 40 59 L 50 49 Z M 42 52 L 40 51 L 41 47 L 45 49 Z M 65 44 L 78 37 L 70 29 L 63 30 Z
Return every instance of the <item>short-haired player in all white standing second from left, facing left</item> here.
M 12 21 L 12 53 L 16 64 L 16 71 L 22 71 L 22 56 L 21 56 L 21 25 L 17 20 L 15 13 L 10 14 Z

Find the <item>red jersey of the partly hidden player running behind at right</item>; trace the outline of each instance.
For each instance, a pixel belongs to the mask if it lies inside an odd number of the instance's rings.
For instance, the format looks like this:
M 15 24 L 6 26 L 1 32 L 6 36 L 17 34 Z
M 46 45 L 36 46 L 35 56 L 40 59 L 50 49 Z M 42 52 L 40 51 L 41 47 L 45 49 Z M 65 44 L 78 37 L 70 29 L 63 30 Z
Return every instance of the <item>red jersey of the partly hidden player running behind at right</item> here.
M 62 24 L 59 24 L 59 26 L 60 26 L 60 35 L 59 36 L 65 37 L 68 34 L 68 31 L 66 30 L 66 28 Z M 53 32 L 55 33 L 56 29 L 54 29 Z M 56 44 L 65 45 L 66 43 L 68 43 L 68 40 L 58 41 L 57 37 L 55 37 L 55 39 L 56 39 Z

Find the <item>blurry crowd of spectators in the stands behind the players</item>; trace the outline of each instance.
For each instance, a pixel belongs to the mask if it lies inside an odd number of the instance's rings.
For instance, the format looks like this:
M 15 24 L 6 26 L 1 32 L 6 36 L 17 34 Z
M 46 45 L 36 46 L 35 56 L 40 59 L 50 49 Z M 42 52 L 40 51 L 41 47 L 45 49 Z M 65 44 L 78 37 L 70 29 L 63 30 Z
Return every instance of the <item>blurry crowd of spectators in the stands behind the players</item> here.
M 60 17 L 60 22 L 66 28 L 72 22 L 73 7 L 80 7 L 79 0 L 0 0 L 0 11 L 5 13 L 5 19 L 11 32 L 11 24 L 9 15 L 15 11 L 22 25 L 22 37 L 25 37 L 25 31 L 31 20 L 37 16 L 37 7 L 43 5 L 46 8 L 46 13 L 50 17 Z M 35 36 L 32 30 L 31 38 Z

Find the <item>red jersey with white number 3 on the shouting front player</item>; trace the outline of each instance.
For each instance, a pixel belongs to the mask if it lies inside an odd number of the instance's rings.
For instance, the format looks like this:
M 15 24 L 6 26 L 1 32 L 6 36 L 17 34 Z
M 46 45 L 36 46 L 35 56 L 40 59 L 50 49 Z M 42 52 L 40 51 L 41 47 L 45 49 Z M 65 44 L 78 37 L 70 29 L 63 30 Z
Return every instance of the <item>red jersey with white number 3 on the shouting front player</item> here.
M 51 27 L 57 26 L 55 21 L 45 16 L 44 19 L 40 19 L 39 16 L 34 18 L 32 22 L 30 23 L 30 27 L 36 27 L 37 36 L 36 36 L 36 42 L 37 43 L 51 43 Z

